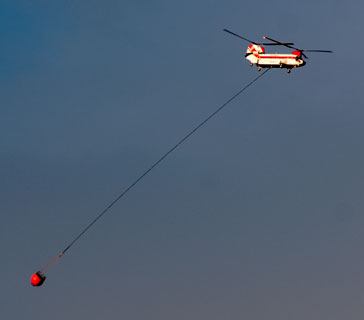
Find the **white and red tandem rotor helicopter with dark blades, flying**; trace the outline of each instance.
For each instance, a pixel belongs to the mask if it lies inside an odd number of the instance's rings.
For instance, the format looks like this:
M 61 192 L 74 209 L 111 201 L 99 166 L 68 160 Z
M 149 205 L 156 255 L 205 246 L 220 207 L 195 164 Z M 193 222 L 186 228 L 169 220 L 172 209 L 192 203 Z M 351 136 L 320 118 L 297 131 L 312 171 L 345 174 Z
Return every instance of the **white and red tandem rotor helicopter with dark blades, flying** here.
M 291 42 L 280 42 L 274 40 L 269 37 L 263 36 L 263 39 L 269 40 L 271 42 L 268 43 L 257 43 L 251 41 L 247 38 L 244 38 L 230 30 L 224 29 L 225 32 L 232 34 L 235 37 L 243 39 L 247 42 L 250 42 L 248 49 L 246 50 L 245 58 L 250 61 L 250 66 L 256 65 L 258 67 L 258 71 L 262 70 L 262 68 L 285 68 L 287 72 L 290 73 L 291 69 L 303 67 L 306 64 L 306 61 L 303 60 L 302 57 L 308 59 L 308 57 L 304 54 L 304 52 L 326 52 L 332 53 L 331 50 L 307 50 L 307 49 L 298 49 L 292 47 L 294 43 Z M 265 53 L 264 46 L 284 46 L 287 48 L 294 49 L 292 53 Z

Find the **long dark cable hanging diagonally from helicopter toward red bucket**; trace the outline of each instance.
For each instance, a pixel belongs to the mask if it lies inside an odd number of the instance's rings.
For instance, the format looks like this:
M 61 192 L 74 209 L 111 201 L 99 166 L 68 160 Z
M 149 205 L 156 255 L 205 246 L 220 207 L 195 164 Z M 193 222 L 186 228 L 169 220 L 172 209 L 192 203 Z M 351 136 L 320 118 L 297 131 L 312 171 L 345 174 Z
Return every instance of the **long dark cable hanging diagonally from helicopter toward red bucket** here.
M 197 130 L 199 130 L 202 126 L 204 126 L 209 120 L 211 120 L 214 116 L 216 116 L 220 111 L 222 111 L 230 102 L 236 99 L 240 94 L 242 94 L 246 89 L 248 89 L 253 83 L 258 81 L 261 77 L 263 77 L 269 69 L 265 70 L 259 76 L 257 76 L 254 80 L 245 85 L 242 89 L 240 89 L 235 95 L 233 95 L 229 100 L 227 100 L 223 105 L 221 105 L 218 109 L 216 109 L 213 113 L 211 113 L 205 120 L 200 122 L 194 129 L 192 129 L 188 134 L 186 134 L 181 140 L 179 140 L 171 149 L 169 149 L 165 154 L 163 154 L 156 162 L 154 162 L 149 169 L 144 171 L 133 183 L 131 183 L 120 195 L 114 199 L 104 210 L 102 210 L 94 220 L 91 221 L 90 224 L 86 226 L 70 243 L 69 245 L 63 249 L 63 251 L 53 260 L 48 262 L 41 270 L 44 271 L 51 264 L 56 262 L 59 258 L 61 258 L 66 251 L 68 251 L 76 241 L 78 241 L 101 217 L 108 212 L 122 197 L 124 197 L 135 185 L 137 185 L 148 173 L 150 173 L 156 166 L 158 166 L 165 158 L 167 158 L 174 150 L 176 150 L 182 143 L 184 143 L 189 137 L 191 137 Z

